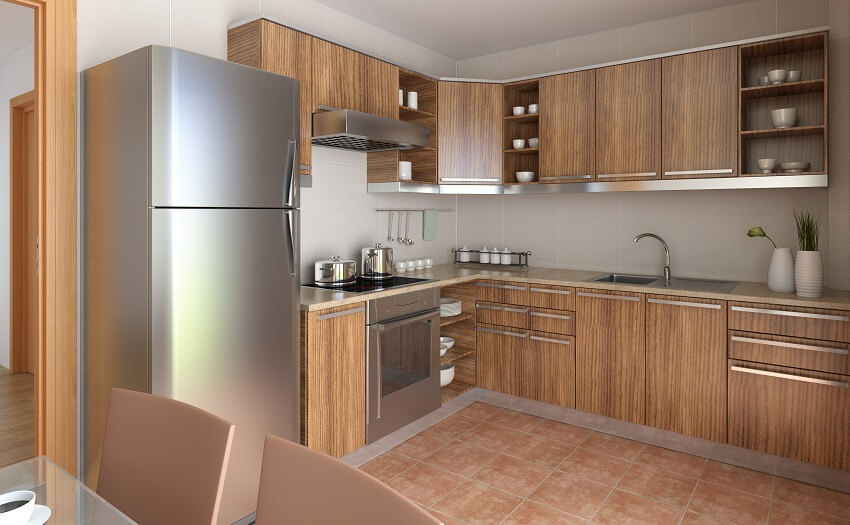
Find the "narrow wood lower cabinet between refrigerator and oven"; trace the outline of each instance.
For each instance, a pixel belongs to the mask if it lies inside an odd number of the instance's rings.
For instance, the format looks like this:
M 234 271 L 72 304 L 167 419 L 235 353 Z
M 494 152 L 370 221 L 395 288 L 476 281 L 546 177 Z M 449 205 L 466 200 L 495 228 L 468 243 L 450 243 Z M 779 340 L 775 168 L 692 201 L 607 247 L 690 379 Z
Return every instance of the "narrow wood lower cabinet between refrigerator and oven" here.
M 366 443 L 365 306 L 302 313 L 301 441 L 334 457 Z

